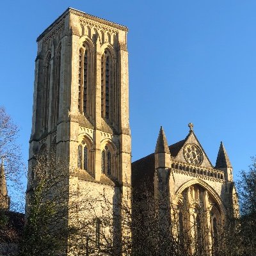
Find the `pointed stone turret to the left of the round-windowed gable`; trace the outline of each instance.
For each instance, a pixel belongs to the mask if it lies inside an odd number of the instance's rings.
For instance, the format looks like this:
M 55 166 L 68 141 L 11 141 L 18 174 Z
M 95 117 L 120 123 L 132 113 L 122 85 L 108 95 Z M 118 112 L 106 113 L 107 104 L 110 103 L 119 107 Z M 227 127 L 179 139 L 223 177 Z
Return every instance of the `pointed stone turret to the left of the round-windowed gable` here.
M 155 168 L 171 168 L 170 150 L 162 126 L 156 143 Z

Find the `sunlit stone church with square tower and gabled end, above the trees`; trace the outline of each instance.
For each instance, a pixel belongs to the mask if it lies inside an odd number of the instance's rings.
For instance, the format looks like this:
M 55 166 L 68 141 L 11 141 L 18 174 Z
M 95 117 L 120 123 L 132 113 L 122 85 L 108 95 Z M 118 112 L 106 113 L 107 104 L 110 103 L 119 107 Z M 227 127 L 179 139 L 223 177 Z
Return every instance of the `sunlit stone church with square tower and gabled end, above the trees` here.
M 155 152 L 131 164 L 127 32 L 125 26 L 68 8 L 38 36 L 28 180 L 33 179 L 36 156 L 54 152 L 56 161 L 65 158 L 70 191 L 83 195 L 90 189 L 95 198 L 104 193 L 113 205 L 129 198 L 129 205 L 136 202 L 133 191 L 146 186 L 158 214 L 164 215 L 159 227 L 178 216 L 176 234 L 183 230 L 196 239 L 207 232 L 204 246 L 209 248 L 218 226 L 237 209 L 227 152 L 221 143 L 213 166 L 193 124 L 184 140 L 170 146 L 161 127 Z M 102 211 L 96 212 L 98 241 Z M 122 219 L 120 205 L 112 212 L 113 219 L 116 212 Z M 67 218 L 72 218 L 70 213 Z M 113 225 L 108 232 L 114 233 L 111 243 L 118 246 L 125 229 L 115 221 Z M 72 248 L 65 252 L 72 255 Z

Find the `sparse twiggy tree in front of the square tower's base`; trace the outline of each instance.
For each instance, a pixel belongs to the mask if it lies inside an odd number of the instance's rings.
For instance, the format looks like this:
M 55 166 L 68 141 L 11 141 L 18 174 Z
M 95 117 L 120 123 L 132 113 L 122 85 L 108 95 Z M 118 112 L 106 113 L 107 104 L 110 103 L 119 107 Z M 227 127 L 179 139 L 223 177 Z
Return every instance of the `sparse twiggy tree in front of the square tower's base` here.
M 67 166 L 67 159 L 56 161 L 54 154 L 35 156 L 28 180 L 20 256 L 54 256 L 69 251 L 77 256 L 86 252 L 101 255 L 103 234 L 108 241 L 101 226 L 109 219 L 101 214 L 99 218 L 99 208 L 103 211 L 99 202 L 104 196 L 93 196 L 89 188 L 79 191 L 77 169 L 69 170 Z M 108 243 L 104 246 L 107 252 Z

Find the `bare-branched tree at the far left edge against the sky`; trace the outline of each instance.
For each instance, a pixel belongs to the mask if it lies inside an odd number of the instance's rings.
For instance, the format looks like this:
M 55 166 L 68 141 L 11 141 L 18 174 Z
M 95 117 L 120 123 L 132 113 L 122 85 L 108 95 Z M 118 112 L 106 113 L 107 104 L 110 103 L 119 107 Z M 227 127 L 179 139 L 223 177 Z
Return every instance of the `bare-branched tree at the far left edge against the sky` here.
M 18 134 L 19 127 L 13 123 L 3 106 L 0 106 L 0 244 L 1 249 L 8 252 L 8 255 L 12 255 L 17 249 L 13 244 L 19 242 L 24 226 L 23 214 L 18 213 L 24 209 L 22 202 L 24 190 L 20 181 L 20 177 L 24 174 L 24 163 L 17 143 Z M 8 193 L 6 180 L 8 188 L 12 188 Z M 10 191 L 11 195 L 15 195 L 11 201 L 12 211 L 9 211 Z

